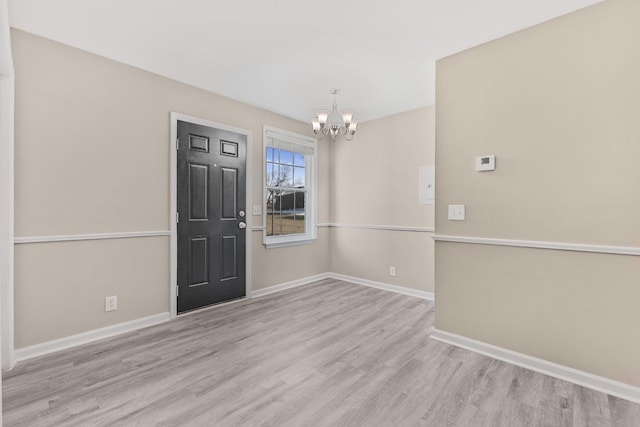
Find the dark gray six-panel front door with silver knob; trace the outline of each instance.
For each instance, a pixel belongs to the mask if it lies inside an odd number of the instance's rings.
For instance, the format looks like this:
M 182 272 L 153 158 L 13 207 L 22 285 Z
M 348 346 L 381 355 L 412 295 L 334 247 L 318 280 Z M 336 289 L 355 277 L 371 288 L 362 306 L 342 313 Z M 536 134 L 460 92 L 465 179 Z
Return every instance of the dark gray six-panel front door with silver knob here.
M 245 296 L 246 143 L 178 121 L 178 313 Z

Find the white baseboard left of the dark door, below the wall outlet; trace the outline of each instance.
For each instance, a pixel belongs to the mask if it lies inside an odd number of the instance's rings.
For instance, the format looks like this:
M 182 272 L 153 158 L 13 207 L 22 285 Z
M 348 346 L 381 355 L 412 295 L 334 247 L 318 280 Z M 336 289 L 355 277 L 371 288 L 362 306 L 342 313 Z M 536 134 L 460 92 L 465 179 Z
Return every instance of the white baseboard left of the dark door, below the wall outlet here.
M 133 332 L 149 326 L 159 325 L 160 323 L 164 323 L 169 320 L 171 320 L 171 315 L 168 312 L 160 313 L 149 317 L 143 317 L 141 319 L 135 319 L 129 322 L 119 323 L 117 325 L 94 329 L 92 331 L 83 332 L 77 335 L 71 335 L 53 341 L 47 341 L 41 344 L 35 344 L 29 347 L 19 348 L 18 350 L 16 350 L 16 359 L 19 362 L 22 362 L 27 359 L 44 356 L 45 354 L 53 353 L 56 351 L 66 350 L 71 347 L 88 344 L 90 342 L 110 338 L 127 332 Z

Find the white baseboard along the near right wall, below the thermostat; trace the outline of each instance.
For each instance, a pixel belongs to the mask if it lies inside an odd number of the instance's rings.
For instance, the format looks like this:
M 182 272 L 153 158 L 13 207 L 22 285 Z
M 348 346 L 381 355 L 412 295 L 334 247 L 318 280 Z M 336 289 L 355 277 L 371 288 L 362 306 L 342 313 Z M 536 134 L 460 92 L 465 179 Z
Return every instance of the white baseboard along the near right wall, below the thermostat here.
M 527 356 L 526 354 L 517 353 L 438 329 L 434 329 L 431 338 L 602 393 L 640 403 L 640 387 L 613 381 L 605 377 L 569 368 L 568 366 L 558 365 L 557 363 Z

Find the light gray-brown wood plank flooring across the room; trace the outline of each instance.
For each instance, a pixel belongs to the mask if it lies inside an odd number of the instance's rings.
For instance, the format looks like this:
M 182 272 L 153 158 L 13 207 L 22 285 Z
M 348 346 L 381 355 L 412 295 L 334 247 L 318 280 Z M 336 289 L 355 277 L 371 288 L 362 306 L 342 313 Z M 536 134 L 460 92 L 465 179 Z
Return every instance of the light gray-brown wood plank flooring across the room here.
M 5 426 L 640 426 L 640 405 L 430 339 L 325 280 L 18 364 Z

